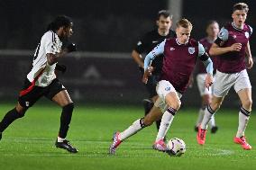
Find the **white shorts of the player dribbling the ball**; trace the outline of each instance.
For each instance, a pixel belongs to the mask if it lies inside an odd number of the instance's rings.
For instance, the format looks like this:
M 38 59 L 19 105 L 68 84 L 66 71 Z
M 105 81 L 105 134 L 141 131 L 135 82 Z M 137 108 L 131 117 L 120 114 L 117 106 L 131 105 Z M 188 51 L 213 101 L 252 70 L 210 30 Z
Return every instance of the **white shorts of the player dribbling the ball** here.
M 159 98 L 154 103 L 154 105 L 158 108 L 160 108 L 161 112 L 166 112 L 169 108 L 168 104 L 165 102 L 165 97 L 167 94 L 173 92 L 178 95 L 178 98 L 180 99 L 182 94 L 179 94 L 173 85 L 169 83 L 169 81 L 161 80 L 158 85 L 156 86 L 157 94 L 159 95 Z

